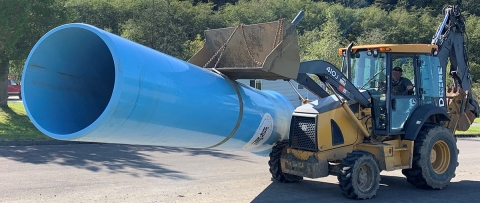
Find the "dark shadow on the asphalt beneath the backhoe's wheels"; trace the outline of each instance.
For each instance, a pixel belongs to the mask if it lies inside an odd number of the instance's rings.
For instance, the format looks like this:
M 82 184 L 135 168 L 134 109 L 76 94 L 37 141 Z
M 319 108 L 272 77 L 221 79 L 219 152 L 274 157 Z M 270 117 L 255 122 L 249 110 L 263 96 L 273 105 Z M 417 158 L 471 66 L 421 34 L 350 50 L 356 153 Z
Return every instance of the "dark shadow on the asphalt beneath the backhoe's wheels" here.
M 280 183 L 273 180 L 252 202 L 356 202 L 342 195 L 338 183 L 319 181 L 321 179 Z M 462 180 L 451 182 L 443 190 L 424 190 L 410 185 L 403 177 L 382 175 L 377 196 L 368 202 L 477 202 L 478 188 L 479 181 Z

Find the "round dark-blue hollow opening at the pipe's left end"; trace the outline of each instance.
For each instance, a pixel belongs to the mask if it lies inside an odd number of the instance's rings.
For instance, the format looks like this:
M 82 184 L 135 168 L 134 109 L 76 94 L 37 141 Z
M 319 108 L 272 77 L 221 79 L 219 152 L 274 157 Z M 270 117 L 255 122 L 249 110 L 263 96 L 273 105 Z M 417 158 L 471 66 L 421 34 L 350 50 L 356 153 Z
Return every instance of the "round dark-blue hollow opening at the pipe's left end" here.
M 112 97 L 115 64 L 93 31 L 67 27 L 42 38 L 23 74 L 25 109 L 43 131 L 62 135 L 91 125 Z

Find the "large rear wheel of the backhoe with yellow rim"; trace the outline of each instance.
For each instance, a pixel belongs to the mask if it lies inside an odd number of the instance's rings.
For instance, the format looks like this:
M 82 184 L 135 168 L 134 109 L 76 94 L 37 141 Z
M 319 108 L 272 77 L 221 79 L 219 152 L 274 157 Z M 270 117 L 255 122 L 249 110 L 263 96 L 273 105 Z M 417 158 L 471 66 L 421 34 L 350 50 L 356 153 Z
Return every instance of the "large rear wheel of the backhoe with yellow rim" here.
M 444 126 L 423 130 L 415 139 L 411 169 L 402 170 L 407 181 L 422 189 L 442 189 L 455 177 L 458 149 Z

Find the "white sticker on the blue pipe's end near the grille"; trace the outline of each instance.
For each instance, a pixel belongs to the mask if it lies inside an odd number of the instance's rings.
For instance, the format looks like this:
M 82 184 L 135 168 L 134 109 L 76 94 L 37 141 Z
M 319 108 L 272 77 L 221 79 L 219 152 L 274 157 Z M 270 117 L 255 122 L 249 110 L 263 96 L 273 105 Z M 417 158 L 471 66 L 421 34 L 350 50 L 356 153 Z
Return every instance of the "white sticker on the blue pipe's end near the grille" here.
M 265 141 L 270 138 L 273 132 L 273 119 L 269 113 L 263 115 L 260 126 L 258 126 L 257 131 L 253 137 L 248 141 L 248 143 L 243 147 L 244 150 L 250 150 L 257 146 L 261 146 Z

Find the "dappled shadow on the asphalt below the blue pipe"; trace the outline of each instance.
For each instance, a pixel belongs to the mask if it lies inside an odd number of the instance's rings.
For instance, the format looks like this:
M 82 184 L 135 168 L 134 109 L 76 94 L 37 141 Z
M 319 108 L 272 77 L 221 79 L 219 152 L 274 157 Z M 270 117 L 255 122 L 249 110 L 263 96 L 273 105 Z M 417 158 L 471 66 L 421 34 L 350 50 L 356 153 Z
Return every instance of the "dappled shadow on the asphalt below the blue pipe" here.
M 182 172 L 168 169 L 165 164 L 159 162 L 165 154 L 171 154 L 172 156 L 180 154 L 180 158 L 181 156 L 204 155 L 248 162 L 246 158 L 228 152 L 176 147 L 116 144 L 0 147 L 0 157 L 24 163 L 58 164 L 94 172 L 102 170 L 133 176 L 189 179 Z

